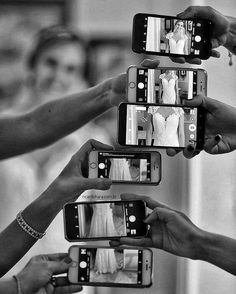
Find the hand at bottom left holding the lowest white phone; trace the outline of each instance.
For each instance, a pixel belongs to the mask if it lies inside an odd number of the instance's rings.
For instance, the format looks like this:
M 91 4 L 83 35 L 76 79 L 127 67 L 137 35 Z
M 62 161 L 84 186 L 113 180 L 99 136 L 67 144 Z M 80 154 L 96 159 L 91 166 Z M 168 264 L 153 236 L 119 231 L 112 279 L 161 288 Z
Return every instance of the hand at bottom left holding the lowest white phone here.
M 52 275 L 66 273 L 72 260 L 67 253 L 38 255 L 30 259 L 19 274 L 22 293 L 32 294 L 37 291 L 47 294 L 77 293 L 82 290 L 79 285 L 71 285 L 66 277 L 55 278 Z

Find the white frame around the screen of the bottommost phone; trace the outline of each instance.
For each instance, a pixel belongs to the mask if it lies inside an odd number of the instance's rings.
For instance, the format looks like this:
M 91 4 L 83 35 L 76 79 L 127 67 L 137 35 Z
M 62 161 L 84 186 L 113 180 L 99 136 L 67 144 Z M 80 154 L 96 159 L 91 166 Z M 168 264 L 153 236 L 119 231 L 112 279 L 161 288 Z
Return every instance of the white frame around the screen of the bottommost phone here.
M 69 256 L 72 259 L 72 266 L 68 269 L 68 280 L 72 284 L 79 284 L 79 285 L 86 285 L 86 286 L 98 286 L 98 287 L 118 287 L 118 288 L 148 288 L 152 285 L 152 278 L 153 278 L 153 252 L 150 248 L 137 248 L 137 247 L 127 247 L 122 246 L 121 249 L 128 249 L 128 250 L 142 250 L 148 251 L 150 256 L 150 283 L 147 285 L 139 285 L 139 284 L 128 284 L 128 283 L 98 283 L 98 282 L 79 282 L 78 281 L 78 259 L 79 259 L 79 248 L 105 248 L 105 249 L 111 249 L 113 247 L 109 246 L 93 246 L 93 245 L 73 245 L 69 248 Z M 117 247 L 114 247 L 114 249 L 117 249 Z M 144 261 L 144 254 L 143 254 L 143 261 Z M 143 267 L 146 263 L 143 262 Z M 143 280 L 143 269 L 142 268 L 142 280 Z

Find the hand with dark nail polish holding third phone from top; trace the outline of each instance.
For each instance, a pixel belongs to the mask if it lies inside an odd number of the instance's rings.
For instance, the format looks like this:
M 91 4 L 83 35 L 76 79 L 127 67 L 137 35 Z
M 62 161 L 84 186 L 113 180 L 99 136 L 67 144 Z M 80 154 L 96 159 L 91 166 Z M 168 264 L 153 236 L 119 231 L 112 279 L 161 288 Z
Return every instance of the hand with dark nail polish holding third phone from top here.
M 203 149 L 207 153 L 222 154 L 236 149 L 236 108 L 204 96 L 186 100 L 185 105 L 202 107 L 206 111 Z M 176 153 L 174 149 L 167 149 L 169 156 Z M 192 158 L 198 153 L 190 145 L 183 151 L 186 158 Z

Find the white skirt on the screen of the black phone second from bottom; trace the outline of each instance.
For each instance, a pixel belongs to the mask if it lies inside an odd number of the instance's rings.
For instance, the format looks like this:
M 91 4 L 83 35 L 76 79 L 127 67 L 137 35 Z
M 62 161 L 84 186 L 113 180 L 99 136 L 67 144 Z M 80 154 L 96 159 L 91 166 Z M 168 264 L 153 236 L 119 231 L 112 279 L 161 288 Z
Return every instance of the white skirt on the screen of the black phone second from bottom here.
M 114 237 L 117 232 L 112 216 L 110 203 L 92 204 L 93 216 L 89 231 L 89 237 Z

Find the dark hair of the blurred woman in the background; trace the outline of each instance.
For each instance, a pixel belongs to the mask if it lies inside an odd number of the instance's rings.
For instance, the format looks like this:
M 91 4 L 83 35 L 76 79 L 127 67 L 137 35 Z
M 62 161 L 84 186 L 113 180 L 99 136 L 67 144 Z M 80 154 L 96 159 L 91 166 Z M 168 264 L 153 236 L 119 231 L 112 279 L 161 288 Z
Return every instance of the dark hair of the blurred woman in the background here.
M 35 41 L 35 46 L 29 54 L 28 66 L 33 69 L 39 56 L 49 47 L 57 43 L 74 43 L 82 46 L 85 50 L 85 42 L 76 33 L 72 32 L 63 25 L 52 25 L 41 29 Z

